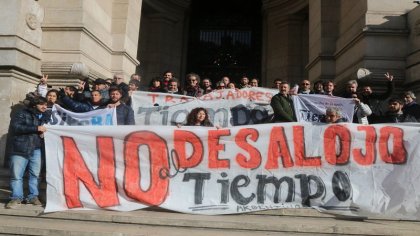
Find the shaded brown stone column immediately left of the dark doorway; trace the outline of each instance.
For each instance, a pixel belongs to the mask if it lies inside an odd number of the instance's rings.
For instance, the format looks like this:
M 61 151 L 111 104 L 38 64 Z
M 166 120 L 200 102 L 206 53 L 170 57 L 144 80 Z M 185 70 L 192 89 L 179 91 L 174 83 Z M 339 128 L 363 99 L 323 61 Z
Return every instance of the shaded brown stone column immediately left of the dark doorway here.
M 145 0 L 140 25 L 140 73 L 145 85 L 166 70 L 182 76 L 190 0 Z

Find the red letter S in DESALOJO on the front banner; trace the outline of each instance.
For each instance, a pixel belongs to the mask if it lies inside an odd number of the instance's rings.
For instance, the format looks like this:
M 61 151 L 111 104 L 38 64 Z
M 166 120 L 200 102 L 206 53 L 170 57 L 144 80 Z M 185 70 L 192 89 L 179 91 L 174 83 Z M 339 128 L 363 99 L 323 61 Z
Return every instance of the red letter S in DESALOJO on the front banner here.
M 235 143 L 240 148 L 244 149 L 249 154 L 249 159 L 243 154 L 236 155 L 236 161 L 238 162 L 239 166 L 247 169 L 255 169 L 258 168 L 261 164 L 261 153 L 258 151 L 257 148 L 252 146 L 247 142 L 247 138 L 251 139 L 252 141 L 256 142 L 258 140 L 259 134 L 258 130 L 256 129 L 240 129 L 235 136 Z

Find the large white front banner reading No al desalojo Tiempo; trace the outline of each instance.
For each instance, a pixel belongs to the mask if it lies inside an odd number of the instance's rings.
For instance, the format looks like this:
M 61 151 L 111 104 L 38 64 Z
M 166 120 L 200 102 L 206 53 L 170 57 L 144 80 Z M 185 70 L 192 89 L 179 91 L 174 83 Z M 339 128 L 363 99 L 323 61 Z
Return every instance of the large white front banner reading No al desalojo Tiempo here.
M 420 219 L 420 128 L 50 126 L 46 212 L 315 207 Z

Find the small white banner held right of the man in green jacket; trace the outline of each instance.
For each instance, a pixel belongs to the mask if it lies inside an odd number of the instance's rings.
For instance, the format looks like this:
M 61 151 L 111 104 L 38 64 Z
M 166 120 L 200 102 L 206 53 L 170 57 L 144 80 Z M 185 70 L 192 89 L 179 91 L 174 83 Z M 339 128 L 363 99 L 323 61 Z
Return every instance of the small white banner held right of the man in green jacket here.
M 293 96 L 296 118 L 299 122 L 321 123 L 327 108 L 337 108 L 347 122 L 353 122 L 354 101 L 351 98 L 315 94 Z

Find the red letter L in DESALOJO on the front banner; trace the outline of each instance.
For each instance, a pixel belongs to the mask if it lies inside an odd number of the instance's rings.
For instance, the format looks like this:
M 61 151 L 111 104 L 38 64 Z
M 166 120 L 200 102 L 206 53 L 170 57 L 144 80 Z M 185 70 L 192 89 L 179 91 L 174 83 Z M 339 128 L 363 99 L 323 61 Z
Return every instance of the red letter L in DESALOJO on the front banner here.
M 293 126 L 293 144 L 297 166 L 321 166 L 321 157 L 307 157 L 305 154 L 305 135 L 303 126 Z

